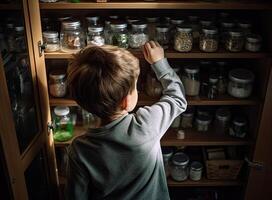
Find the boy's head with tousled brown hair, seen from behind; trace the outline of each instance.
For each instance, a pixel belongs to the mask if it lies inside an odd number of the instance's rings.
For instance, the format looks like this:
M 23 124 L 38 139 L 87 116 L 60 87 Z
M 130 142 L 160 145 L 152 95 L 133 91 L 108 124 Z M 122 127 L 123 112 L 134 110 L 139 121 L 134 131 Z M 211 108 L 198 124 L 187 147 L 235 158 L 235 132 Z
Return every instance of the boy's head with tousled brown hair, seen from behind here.
M 67 82 L 77 103 L 104 120 L 137 103 L 139 60 L 115 46 L 90 46 L 74 56 Z

